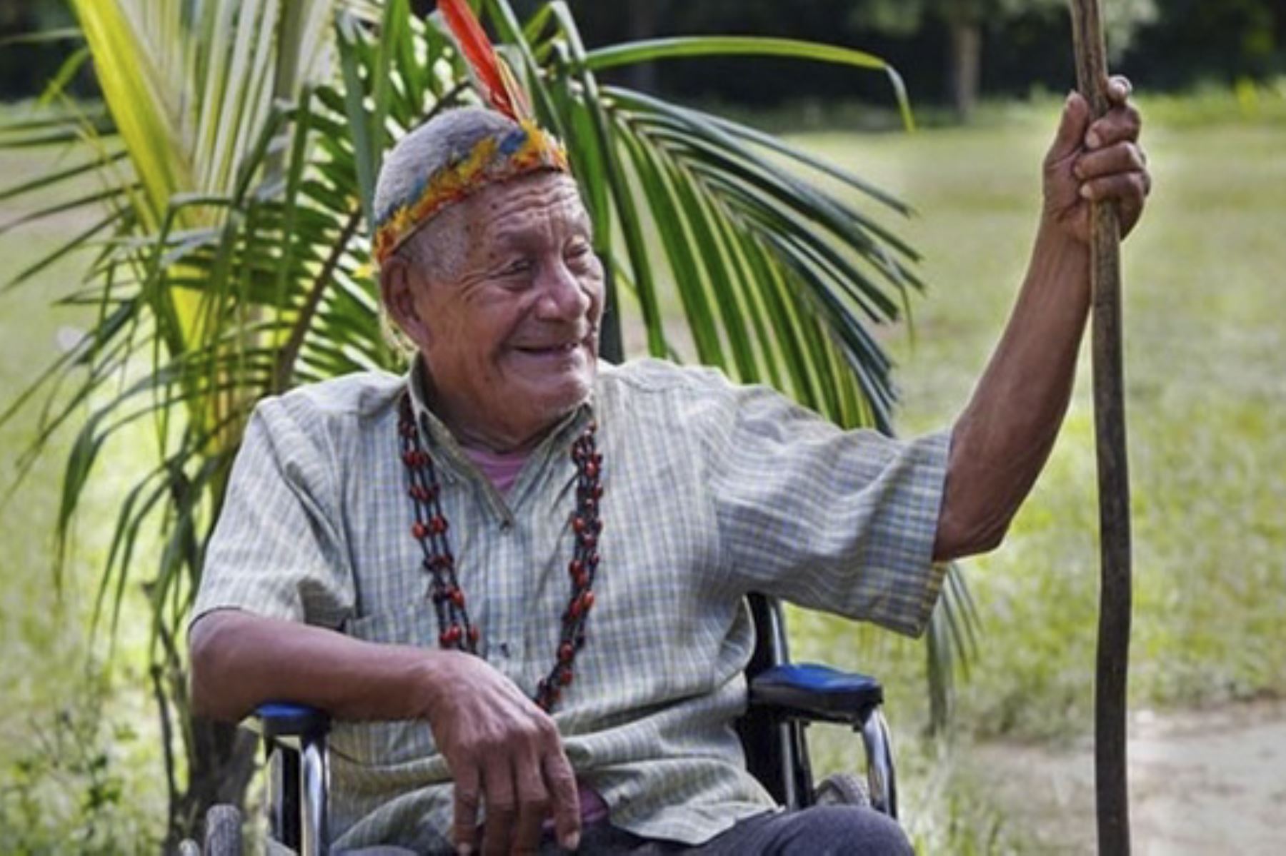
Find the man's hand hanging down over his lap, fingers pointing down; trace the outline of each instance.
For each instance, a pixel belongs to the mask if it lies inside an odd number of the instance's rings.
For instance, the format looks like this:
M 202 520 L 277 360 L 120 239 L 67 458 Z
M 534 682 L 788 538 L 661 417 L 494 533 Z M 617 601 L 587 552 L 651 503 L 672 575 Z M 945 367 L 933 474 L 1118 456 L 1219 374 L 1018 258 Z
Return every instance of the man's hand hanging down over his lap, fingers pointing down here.
M 455 781 L 455 847 L 460 853 L 534 853 L 550 815 L 558 843 L 580 843 L 576 776 L 558 727 L 486 661 L 439 652 L 426 718 Z M 486 826 L 477 841 L 478 806 Z

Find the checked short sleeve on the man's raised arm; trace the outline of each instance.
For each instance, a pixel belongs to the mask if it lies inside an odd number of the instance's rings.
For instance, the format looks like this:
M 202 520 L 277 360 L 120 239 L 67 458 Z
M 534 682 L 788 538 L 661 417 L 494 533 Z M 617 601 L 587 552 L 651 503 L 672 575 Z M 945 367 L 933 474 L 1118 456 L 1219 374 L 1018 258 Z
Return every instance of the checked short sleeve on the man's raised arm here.
M 944 575 L 932 550 L 949 433 L 845 432 L 764 387 L 734 401 L 712 488 L 736 585 L 921 634 Z

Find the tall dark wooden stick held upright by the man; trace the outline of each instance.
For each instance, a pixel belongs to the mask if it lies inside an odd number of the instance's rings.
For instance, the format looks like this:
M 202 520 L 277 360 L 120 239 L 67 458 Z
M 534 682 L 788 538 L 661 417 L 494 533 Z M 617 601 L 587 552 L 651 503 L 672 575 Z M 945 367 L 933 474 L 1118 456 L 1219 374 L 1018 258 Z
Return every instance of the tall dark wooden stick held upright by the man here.
M 1071 0 L 1076 81 L 1093 118 L 1107 112 L 1107 58 L 1098 0 Z M 1094 681 L 1094 797 L 1098 852 L 1129 853 L 1125 685 L 1129 667 L 1130 531 L 1121 371 L 1120 221 L 1115 202 L 1091 207 L 1094 440 L 1098 458 L 1098 657 Z

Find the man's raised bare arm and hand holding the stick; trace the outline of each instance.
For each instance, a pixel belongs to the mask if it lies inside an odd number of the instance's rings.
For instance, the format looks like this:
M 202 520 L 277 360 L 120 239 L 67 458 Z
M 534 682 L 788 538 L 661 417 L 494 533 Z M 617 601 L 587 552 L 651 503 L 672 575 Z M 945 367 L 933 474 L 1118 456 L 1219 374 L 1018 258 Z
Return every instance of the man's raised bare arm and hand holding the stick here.
M 1004 334 L 955 422 L 934 558 L 994 549 L 1049 456 L 1071 396 L 1089 312 L 1089 201 L 1118 199 L 1123 231 L 1150 190 L 1129 84 L 1089 122 L 1073 95 L 1044 162 L 1046 204 L 1031 263 Z

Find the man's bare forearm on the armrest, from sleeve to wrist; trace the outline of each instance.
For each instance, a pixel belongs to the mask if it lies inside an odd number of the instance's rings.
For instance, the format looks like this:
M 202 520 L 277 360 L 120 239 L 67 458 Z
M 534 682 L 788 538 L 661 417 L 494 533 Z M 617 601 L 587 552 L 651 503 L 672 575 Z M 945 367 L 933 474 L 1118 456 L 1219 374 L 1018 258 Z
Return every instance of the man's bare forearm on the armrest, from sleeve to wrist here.
M 193 707 L 228 721 L 267 700 L 345 720 L 423 717 L 442 655 L 231 609 L 197 621 L 190 648 Z

